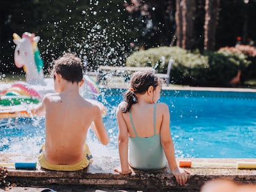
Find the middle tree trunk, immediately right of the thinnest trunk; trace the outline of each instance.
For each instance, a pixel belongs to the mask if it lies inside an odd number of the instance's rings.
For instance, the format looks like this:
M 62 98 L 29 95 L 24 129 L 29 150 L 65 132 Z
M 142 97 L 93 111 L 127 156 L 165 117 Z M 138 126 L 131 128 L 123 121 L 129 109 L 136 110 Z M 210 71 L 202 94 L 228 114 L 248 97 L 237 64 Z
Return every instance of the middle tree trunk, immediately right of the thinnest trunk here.
M 192 49 L 195 43 L 194 38 L 194 15 L 195 0 L 182 0 L 182 48 Z

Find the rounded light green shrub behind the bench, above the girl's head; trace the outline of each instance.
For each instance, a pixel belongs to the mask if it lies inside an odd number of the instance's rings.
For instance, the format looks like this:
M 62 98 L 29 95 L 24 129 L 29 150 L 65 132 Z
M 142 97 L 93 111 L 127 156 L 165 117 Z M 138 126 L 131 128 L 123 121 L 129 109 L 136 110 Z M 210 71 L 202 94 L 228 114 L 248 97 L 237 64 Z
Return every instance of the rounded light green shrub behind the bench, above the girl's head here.
M 201 70 L 207 68 L 205 57 L 198 52 L 194 54 L 178 47 L 163 46 L 134 52 L 127 57 L 126 65 L 154 67 L 158 73 L 166 73 L 170 57 L 173 57 L 172 83 L 194 85 L 197 84 L 194 81 L 201 81 L 204 78 Z

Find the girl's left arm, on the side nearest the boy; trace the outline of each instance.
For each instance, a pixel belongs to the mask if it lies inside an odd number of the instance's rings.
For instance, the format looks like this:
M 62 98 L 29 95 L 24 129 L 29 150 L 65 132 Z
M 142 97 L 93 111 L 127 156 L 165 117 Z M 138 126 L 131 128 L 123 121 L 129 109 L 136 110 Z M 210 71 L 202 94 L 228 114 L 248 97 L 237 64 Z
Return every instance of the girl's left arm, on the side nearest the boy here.
M 128 162 L 128 130 L 126 122 L 124 121 L 124 118 L 122 117 L 122 111 L 120 105 L 117 107 L 116 112 L 116 118 L 118 123 L 118 149 L 119 149 L 119 157 L 120 157 L 120 163 L 121 163 L 121 169 L 114 169 L 115 172 L 121 173 L 121 174 L 128 174 L 132 172 L 132 170 L 129 167 Z

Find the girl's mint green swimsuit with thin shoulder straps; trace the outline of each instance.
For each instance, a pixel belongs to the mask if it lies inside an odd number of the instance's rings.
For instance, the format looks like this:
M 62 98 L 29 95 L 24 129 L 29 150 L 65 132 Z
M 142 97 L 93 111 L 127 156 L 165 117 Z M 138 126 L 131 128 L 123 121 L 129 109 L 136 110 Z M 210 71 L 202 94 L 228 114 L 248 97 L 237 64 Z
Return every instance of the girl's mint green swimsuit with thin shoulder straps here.
M 142 138 L 137 135 L 130 114 L 130 121 L 135 137 L 129 136 L 129 163 L 135 169 L 163 169 L 166 166 L 166 157 L 161 146 L 160 134 L 156 134 L 156 104 L 154 106 L 154 135 Z

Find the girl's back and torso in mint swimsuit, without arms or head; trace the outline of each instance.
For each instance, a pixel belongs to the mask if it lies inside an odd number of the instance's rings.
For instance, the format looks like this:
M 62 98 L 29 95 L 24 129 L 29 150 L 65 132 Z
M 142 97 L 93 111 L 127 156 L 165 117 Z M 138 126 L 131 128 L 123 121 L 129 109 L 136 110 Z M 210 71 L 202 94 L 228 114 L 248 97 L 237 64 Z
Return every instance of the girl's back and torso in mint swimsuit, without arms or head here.
M 142 106 L 134 104 L 127 119 L 132 128 L 129 133 L 134 135 L 129 136 L 129 162 L 136 169 L 163 169 L 166 158 L 160 139 L 161 113 L 156 118 L 157 104 Z

